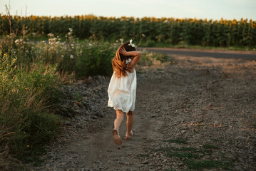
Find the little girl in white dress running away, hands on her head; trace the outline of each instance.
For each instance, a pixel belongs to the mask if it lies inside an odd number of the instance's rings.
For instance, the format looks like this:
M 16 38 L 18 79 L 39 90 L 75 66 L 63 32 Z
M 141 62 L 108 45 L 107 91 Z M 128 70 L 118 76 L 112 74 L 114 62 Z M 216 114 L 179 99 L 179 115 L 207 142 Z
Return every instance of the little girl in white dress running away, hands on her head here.
M 126 113 L 127 131 L 125 140 L 133 135 L 133 110 L 135 108 L 137 78 L 134 66 L 140 60 L 141 52 L 136 51 L 132 40 L 123 43 L 116 51 L 112 60 L 113 76 L 108 86 L 108 107 L 116 110 L 114 121 L 113 140 L 117 145 L 122 144 L 119 136 L 119 127 Z

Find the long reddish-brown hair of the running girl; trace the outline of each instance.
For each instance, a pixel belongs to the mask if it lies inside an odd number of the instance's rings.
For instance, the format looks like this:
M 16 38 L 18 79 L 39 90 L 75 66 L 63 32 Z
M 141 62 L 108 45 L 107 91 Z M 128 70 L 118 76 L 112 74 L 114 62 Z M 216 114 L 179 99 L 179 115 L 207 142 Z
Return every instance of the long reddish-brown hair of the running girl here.
M 116 72 L 116 76 L 118 78 L 121 78 L 122 76 L 127 76 L 126 73 L 126 60 L 128 58 L 131 58 L 132 56 L 124 56 L 119 51 L 121 48 L 125 48 L 126 51 L 136 51 L 136 49 L 133 46 L 130 46 L 130 41 L 127 41 L 126 43 L 123 43 L 118 50 L 116 51 L 116 56 L 112 59 L 112 66 L 113 71 Z

